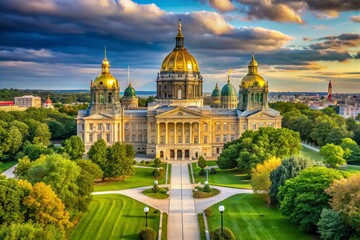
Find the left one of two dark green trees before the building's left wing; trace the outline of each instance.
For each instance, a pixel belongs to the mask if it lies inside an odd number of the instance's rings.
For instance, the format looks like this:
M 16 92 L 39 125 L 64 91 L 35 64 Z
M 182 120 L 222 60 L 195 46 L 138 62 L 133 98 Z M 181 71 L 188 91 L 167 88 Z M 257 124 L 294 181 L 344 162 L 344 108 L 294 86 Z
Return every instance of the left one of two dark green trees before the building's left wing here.
M 90 160 L 97 164 L 100 169 L 103 171 L 102 181 L 107 177 L 106 168 L 107 168 L 107 149 L 106 142 L 103 139 L 97 140 L 89 149 L 88 157 Z

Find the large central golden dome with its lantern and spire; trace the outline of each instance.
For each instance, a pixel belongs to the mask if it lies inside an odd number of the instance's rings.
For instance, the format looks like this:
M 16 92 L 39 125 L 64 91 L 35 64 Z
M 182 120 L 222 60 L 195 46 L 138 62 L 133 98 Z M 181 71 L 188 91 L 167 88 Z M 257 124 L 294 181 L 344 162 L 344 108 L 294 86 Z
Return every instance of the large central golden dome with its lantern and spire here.
M 184 35 L 182 25 L 179 22 L 178 34 L 176 35 L 176 45 L 174 50 L 169 53 L 161 64 L 161 73 L 167 72 L 199 72 L 199 65 L 196 59 L 184 47 Z

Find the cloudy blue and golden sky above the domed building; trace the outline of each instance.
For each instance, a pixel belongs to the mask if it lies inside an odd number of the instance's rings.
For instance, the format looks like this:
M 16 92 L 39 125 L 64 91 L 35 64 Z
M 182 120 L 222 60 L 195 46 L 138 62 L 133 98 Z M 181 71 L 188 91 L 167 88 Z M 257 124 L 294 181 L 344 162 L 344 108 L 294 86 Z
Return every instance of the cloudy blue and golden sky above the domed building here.
M 359 0 L 1 0 L 0 88 L 89 89 L 104 47 L 123 91 L 155 90 L 178 19 L 204 92 L 254 52 L 269 90 L 360 92 Z

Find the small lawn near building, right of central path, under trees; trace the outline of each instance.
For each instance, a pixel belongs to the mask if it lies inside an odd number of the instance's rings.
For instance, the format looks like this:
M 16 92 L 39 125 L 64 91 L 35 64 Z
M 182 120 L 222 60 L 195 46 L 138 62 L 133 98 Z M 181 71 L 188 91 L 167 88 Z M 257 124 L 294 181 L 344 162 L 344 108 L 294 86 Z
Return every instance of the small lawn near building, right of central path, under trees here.
M 195 183 L 206 181 L 206 176 L 199 176 L 200 168 L 193 163 Z M 240 174 L 238 169 L 221 170 L 216 168 L 216 174 L 209 174 L 209 184 L 220 187 L 251 189 L 250 177 Z

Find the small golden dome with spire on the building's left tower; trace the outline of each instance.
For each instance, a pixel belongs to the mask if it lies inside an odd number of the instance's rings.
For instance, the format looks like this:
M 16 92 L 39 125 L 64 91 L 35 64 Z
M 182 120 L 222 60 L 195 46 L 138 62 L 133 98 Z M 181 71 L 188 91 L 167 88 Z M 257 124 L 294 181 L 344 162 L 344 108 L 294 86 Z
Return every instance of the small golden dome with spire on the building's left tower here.
M 110 73 L 110 62 L 105 58 L 101 64 L 101 74 L 99 74 L 91 85 L 92 87 L 103 87 L 103 88 L 118 88 L 119 83 L 117 79 Z

